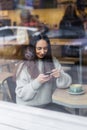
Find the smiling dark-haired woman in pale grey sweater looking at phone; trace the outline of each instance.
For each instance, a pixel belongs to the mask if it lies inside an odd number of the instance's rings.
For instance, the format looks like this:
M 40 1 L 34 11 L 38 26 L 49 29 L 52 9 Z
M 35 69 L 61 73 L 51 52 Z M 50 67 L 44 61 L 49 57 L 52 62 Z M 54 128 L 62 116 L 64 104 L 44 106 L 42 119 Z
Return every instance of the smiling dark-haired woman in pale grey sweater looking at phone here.
M 48 108 L 55 88 L 69 87 L 71 77 L 52 57 L 46 35 L 34 36 L 24 55 L 27 60 L 21 63 L 16 75 L 16 101 L 27 106 Z

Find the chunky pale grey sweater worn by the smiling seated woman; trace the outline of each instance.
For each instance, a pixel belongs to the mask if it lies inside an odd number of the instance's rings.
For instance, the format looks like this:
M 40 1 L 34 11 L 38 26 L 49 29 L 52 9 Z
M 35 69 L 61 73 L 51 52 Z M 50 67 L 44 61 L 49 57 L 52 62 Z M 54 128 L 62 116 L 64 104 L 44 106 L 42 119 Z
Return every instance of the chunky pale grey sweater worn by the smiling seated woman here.
M 53 58 L 55 68 L 61 69 L 61 65 L 56 58 Z M 22 63 L 19 66 L 20 71 Z M 39 60 L 38 67 L 41 73 L 43 63 Z M 67 88 L 71 82 L 71 77 L 61 69 L 61 76 L 55 80 L 55 84 L 58 88 Z M 16 80 L 16 101 L 18 104 L 27 106 L 41 106 L 52 102 L 52 93 L 55 89 L 54 83 L 41 84 L 37 79 L 31 79 L 27 71 L 27 67 L 24 66 L 20 75 Z

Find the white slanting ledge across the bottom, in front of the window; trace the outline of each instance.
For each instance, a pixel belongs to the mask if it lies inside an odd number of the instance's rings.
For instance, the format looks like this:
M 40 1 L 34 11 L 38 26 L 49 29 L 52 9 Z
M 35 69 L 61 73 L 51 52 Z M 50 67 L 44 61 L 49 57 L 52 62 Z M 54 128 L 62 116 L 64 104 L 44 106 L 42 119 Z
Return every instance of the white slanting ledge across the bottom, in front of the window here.
M 0 102 L 0 130 L 87 130 L 87 118 Z

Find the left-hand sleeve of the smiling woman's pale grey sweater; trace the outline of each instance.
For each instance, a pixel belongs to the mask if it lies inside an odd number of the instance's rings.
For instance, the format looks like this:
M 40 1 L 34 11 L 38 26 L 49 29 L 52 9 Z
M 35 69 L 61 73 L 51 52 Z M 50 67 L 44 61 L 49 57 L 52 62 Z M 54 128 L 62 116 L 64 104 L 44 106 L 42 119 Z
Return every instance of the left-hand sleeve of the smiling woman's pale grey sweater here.
M 31 79 L 25 67 L 23 67 L 20 75 L 16 79 L 16 85 L 16 96 L 22 98 L 24 101 L 31 100 L 41 86 L 37 79 Z

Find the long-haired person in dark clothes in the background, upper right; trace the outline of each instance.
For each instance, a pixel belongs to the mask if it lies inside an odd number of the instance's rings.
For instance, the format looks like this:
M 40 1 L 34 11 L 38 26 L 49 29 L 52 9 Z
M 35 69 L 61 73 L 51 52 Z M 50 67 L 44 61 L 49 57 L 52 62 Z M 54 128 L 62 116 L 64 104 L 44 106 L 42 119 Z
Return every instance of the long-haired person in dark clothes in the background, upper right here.
M 77 15 L 76 7 L 68 5 L 59 24 L 60 38 L 82 38 L 85 36 L 83 21 Z

